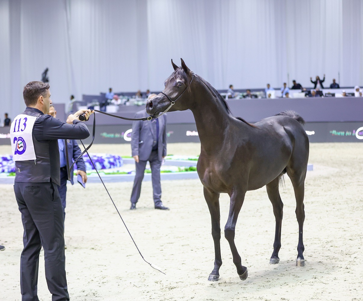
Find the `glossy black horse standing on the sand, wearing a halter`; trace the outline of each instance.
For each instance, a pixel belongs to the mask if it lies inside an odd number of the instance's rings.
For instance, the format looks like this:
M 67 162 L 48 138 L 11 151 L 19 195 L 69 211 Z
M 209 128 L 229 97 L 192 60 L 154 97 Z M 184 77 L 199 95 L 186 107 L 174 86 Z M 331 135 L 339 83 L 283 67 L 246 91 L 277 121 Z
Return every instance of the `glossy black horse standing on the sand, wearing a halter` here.
M 241 257 L 234 244 L 234 231 L 248 190 L 266 185 L 276 219 L 270 263 L 277 264 L 280 261 L 278 252 L 281 248 L 283 203 L 279 182 L 285 173 L 293 184 L 296 198 L 295 213 L 299 224 L 296 265 L 305 265 L 302 229 L 309 139 L 303 129 L 303 118 L 293 111 L 285 111 L 250 124 L 242 118 L 233 117 L 216 89 L 191 72 L 183 60 L 181 68 L 173 62 L 172 65 L 174 72 L 165 81 L 165 89 L 147 102 L 146 110 L 154 116 L 167 110 L 190 109 L 193 112 L 201 143 L 197 171 L 211 213 L 215 248 L 214 268 L 208 280 L 219 279 L 219 268 L 222 265 L 219 208 L 219 195 L 222 192 L 228 193 L 231 199 L 224 235 L 231 247 L 233 263 L 241 280 L 247 278 L 248 272 L 241 265 Z

